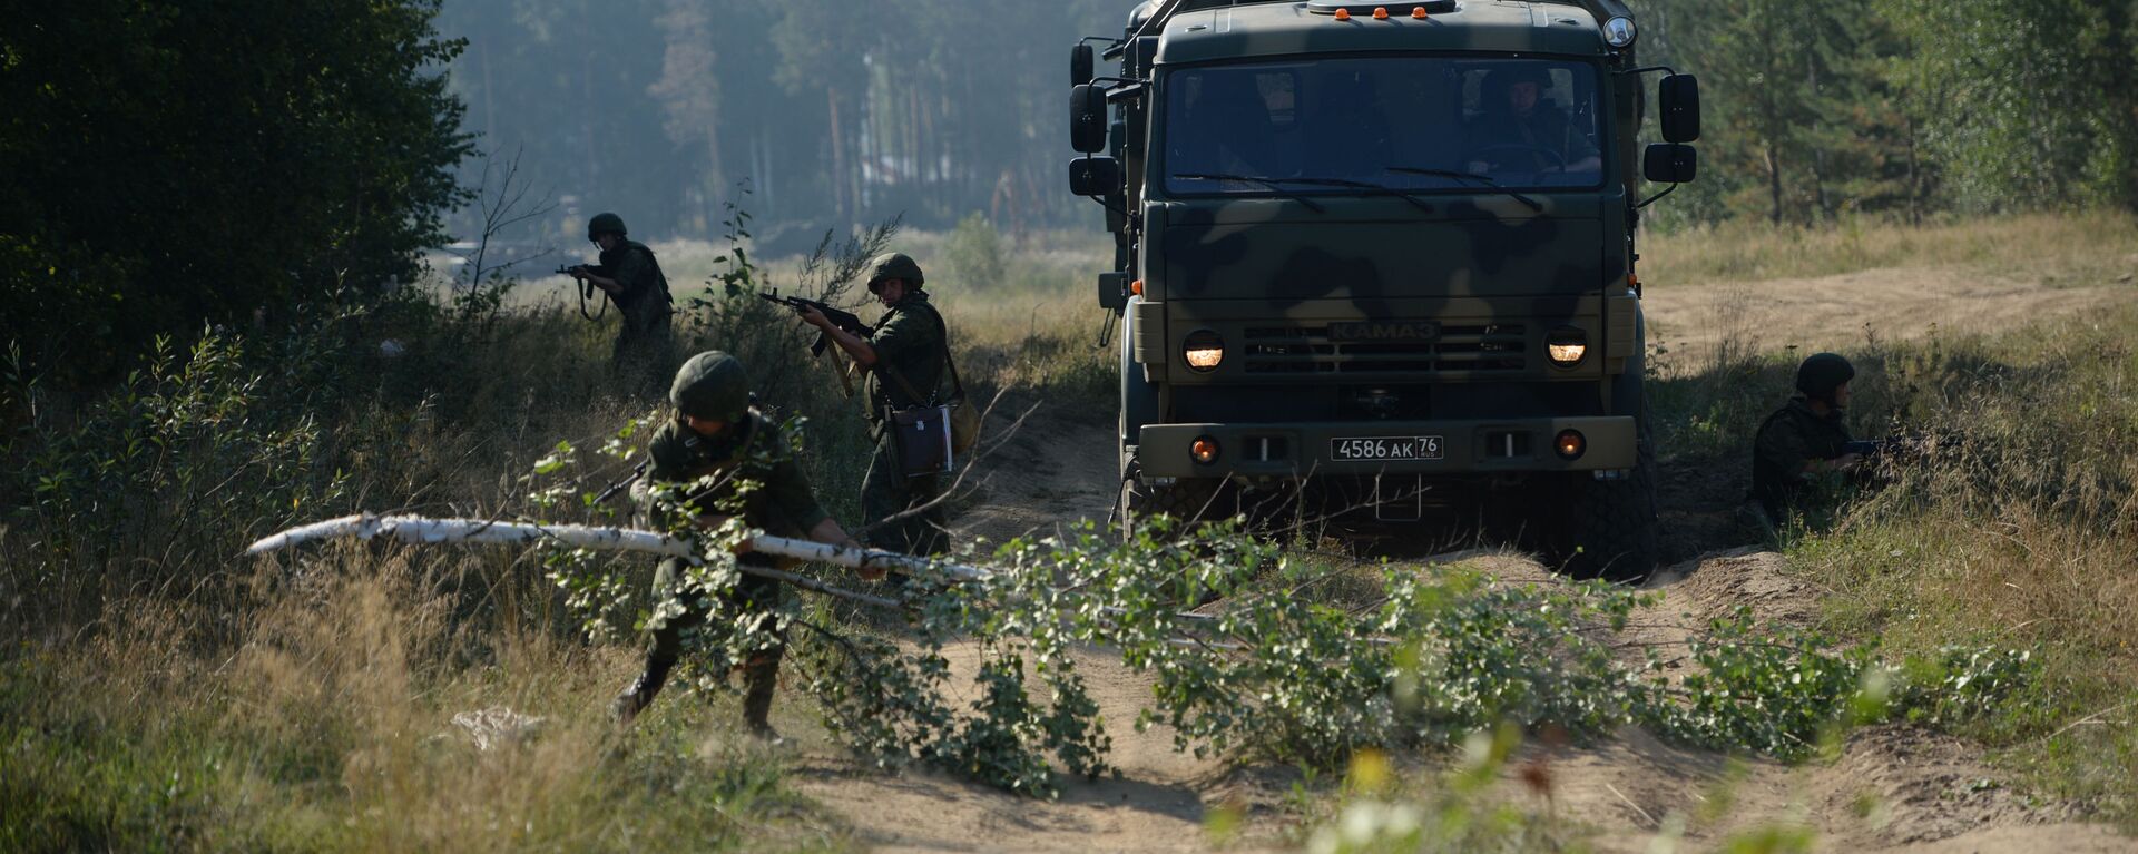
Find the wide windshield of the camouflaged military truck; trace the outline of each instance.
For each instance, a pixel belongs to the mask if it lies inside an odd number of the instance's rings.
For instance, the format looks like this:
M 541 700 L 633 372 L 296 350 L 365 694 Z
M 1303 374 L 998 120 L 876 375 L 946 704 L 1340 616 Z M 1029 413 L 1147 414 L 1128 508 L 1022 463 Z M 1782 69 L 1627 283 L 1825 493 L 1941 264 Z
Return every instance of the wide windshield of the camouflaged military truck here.
M 1287 178 L 1400 190 L 1604 184 L 1595 68 L 1580 62 L 1317 58 L 1178 68 L 1163 86 L 1172 193 L 1353 193 Z

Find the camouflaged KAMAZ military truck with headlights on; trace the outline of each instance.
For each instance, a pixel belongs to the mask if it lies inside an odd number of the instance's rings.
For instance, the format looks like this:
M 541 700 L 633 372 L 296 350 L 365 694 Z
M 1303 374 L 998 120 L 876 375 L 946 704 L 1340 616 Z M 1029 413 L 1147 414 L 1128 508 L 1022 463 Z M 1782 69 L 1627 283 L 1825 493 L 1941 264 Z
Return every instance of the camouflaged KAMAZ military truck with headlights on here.
M 1127 516 L 1499 501 L 1578 574 L 1646 574 L 1633 238 L 1698 169 L 1700 90 L 1636 41 L 1621 0 L 1150 0 L 1075 45 Z

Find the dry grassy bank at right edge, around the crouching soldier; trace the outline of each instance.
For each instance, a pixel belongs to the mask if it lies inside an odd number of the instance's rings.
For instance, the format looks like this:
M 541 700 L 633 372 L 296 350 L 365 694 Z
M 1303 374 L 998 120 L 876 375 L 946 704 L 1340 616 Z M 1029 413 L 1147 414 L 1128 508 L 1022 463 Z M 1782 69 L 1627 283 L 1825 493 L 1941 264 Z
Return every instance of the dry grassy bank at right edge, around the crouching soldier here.
M 1958 445 L 1858 492 L 1783 550 L 1824 629 L 1894 659 L 2033 651 L 2023 702 L 1961 728 L 2038 792 L 2138 822 L 2138 308 L 1843 349 L 1856 434 Z M 1653 387 L 1680 469 L 1742 471 L 1794 364 L 1719 347 Z M 1725 475 L 1728 477 L 1728 475 Z

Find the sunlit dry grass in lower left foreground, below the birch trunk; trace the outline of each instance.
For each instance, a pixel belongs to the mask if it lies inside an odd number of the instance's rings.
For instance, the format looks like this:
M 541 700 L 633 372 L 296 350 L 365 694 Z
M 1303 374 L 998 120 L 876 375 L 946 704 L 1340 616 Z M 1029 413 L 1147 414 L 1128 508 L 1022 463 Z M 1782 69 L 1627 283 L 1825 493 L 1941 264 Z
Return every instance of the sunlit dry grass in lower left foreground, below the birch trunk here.
M 235 644 L 199 644 L 210 601 L 139 604 L 0 664 L 0 848 L 847 848 L 714 706 L 671 698 L 618 734 L 618 651 L 468 634 L 451 563 L 342 548 L 299 578 L 259 569 L 274 591 Z M 541 726 L 479 749 L 453 715 L 490 706 Z

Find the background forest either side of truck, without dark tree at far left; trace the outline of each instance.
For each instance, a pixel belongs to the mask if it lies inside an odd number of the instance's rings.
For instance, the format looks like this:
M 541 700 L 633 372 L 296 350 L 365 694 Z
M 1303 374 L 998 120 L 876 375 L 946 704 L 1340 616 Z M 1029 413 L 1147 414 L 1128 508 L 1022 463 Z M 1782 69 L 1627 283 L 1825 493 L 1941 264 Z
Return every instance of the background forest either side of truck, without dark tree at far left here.
M 1097 223 L 1060 186 L 1060 71 L 1131 6 L 460 0 L 440 30 L 468 39 L 451 79 L 481 146 L 528 152 L 582 208 L 712 235 L 748 184 L 772 235 L 971 212 L 1022 233 Z M 2127 2 L 1633 6 L 1644 60 L 1700 75 L 1717 107 L 1708 178 L 1659 225 L 2138 201 Z

